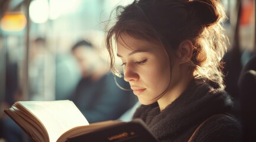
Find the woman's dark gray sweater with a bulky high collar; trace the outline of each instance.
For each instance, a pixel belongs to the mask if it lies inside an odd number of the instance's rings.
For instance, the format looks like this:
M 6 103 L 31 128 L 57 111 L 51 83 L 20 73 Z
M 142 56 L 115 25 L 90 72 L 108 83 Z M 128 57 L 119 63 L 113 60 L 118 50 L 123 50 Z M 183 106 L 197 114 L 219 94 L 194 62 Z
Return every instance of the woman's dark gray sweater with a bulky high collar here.
M 133 118 L 142 118 L 159 141 L 188 141 L 207 118 L 193 141 L 241 141 L 241 126 L 229 114 L 231 97 L 213 82 L 193 80 L 188 88 L 162 112 L 156 103 L 140 106 Z

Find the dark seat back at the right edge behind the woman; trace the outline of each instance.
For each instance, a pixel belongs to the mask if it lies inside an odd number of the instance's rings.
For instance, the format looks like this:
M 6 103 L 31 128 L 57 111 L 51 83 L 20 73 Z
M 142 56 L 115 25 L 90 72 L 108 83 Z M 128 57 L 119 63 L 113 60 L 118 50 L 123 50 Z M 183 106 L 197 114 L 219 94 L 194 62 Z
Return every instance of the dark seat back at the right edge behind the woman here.
M 255 141 L 256 134 L 256 56 L 243 68 L 239 77 L 243 141 Z

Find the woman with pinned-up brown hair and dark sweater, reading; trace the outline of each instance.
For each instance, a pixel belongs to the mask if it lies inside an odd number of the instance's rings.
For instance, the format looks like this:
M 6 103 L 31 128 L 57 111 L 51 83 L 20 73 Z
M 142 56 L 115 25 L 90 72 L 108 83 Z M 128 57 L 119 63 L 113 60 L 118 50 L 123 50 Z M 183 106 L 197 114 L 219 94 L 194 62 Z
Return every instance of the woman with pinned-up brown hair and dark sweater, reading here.
M 227 38 L 220 2 L 140 0 L 120 9 L 107 49 L 120 75 L 115 40 L 124 80 L 142 104 L 133 117 L 142 118 L 159 141 L 240 141 L 223 84 Z

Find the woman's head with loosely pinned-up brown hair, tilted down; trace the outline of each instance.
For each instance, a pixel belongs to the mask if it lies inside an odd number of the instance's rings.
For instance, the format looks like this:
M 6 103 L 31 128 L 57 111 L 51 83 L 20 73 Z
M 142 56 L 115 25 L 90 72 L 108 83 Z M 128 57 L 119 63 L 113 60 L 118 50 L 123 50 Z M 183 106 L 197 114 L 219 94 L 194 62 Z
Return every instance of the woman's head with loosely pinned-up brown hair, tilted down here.
M 150 88 L 158 86 L 145 104 L 169 91 L 182 77 L 181 72 L 187 72 L 188 78 L 204 78 L 222 85 L 220 60 L 226 51 L 222 22 L 226 17 L 219 1 L 140 0 L 117 7 L 116 11 L 117 22 L 107 35 L 111 68 L 119 73 L 114 69 L 114 40 L 118 56 L 126 62 L 124 79 L 132 86 L 135 81 L 127 75 L 133 74 L 137 75 L 136 82 L 147 82 L 145 86 Z M 134 52 L 140 54 L 135 57 Z M 146 87 L 137 88 L 143 91 Z

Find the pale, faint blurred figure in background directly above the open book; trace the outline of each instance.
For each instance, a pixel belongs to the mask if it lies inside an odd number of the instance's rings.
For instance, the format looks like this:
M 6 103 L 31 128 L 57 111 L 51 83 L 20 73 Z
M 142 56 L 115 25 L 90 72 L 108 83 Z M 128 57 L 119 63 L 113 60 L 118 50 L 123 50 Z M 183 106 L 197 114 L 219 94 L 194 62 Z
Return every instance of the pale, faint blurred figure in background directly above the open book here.
M 29 53 L 28 83 L 30 101 L 53 101 L 55 99 L 50 81 L 53 75 L 53 56 L 46 47 L 46 40 L 37 37 L 31 41 Z M 53 76 L 52 76 L 53 77 Z

